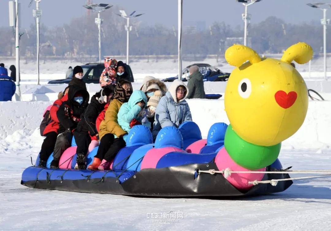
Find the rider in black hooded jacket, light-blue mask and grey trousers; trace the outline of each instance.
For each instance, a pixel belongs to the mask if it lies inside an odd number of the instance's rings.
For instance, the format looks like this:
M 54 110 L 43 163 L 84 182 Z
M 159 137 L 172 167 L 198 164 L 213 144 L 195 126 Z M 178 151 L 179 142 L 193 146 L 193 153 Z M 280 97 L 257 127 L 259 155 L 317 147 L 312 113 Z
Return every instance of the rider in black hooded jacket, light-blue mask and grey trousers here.
M 70 86 L 68 100 L 60 106 L 57 116 L 60 122 L 59 135 L 56 139 L 51 168 L 59 167 L 62 153 L 71 146 L 72 133 L 76 129 L 88 106 L 89 94 L 86 90 Z

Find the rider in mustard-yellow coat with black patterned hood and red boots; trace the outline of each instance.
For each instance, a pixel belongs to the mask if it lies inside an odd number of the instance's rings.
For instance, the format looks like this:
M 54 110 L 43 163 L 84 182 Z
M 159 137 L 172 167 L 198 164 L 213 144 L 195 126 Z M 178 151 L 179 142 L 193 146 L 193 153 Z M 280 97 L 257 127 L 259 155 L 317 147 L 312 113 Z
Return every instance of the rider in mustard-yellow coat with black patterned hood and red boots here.
M 91 170 L 106 168 L 104 165 L 100 165 L 102 159 L 111 161 L 116 153 L 125 146 L 123 136 L 126 132 L 118 125 L 117 114 L 119 108 L 123 103 L 129 101 L 132 94 L 132 85 L 126 80 L 121 80 L 117 83 L 113 100 L 110 102 L 105 119 L 100 123 L 99 138 L 100 144 L 98 152 L 93 159 L 93 163 L 87 168 Z

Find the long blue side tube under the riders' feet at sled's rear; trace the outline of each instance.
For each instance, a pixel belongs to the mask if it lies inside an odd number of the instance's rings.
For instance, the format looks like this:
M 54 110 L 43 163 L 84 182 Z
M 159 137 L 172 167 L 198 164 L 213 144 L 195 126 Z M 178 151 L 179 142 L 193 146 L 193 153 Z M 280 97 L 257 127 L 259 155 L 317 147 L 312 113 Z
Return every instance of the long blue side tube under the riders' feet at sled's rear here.
M 106 171 L 95 171 L 91 175 L 90 170 L 78 170 L 78 169 L 43 169 L 38 167 L 28 167 L 23 171 L 22 181 L 36 181 L 37 176 L 38 180 L 46 180 L 49 177 L 49 180 L 60 180 L 61 176 L 63 180 L 86 180 L 87 176 L 90 175 L 89 179 L 102 178 L 105 175 Z M 118 178 L 120 183 L 123 183 L 130 177 L 132 177 L 136 172 L 135 171 L 110 171 L 107 173 L 106 177 Z

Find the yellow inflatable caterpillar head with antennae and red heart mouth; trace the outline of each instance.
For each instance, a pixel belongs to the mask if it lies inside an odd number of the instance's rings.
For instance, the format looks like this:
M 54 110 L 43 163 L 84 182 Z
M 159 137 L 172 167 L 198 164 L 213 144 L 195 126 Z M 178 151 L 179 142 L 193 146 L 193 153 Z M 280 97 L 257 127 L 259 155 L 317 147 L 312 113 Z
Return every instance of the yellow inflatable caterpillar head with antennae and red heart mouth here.
M 260 58 L 244 45 L 226 50 L 226 61 L 237 68 L 225 89 L 225 111 L 242 139 L 271 146 L 301 127 L 308 108 L 307 86 L 290 63 L 306 63 L 312 54 L 312 48 L 304 42 L 289 47 L 281 60 Z

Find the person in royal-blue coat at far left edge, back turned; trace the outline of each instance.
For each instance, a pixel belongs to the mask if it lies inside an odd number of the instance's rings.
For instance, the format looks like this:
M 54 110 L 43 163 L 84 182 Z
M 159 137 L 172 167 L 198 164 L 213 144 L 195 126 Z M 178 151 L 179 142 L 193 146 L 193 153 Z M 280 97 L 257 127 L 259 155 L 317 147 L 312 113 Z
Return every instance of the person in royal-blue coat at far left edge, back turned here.
M 6 74 L 4 67 L 0 67 L 0 101 L 11 101 L 15 90 L 14 80 Z

